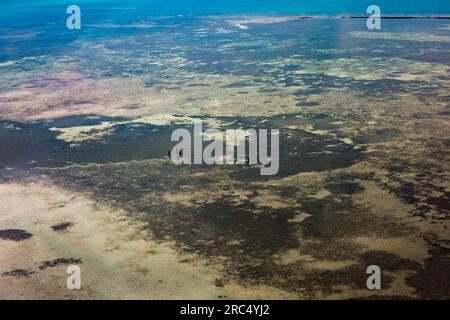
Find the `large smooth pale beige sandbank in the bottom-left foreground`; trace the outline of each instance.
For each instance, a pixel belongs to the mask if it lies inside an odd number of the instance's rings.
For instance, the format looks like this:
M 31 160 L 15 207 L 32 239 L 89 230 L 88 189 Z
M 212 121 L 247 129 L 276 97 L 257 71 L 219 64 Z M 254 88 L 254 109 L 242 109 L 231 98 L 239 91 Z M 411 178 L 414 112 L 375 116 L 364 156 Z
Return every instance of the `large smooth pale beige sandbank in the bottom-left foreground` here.
M 142 224 L 123 212 L 93 203 L 83 195 L 49 183 L 0 185 L 0 225 L 33 234 L 29 240 L 0 240 L 1 271 L 25 269 L 27 278 L 0 276 L 2 299 L 214 299 L 217 271 L 181 263 L 170 244 L 146 237 Z M 50 227 L 74 225 L 64 233 Z M 82 290 L 67 290 L 66 266 L 39 270 L 42 261 L 81 259 Z

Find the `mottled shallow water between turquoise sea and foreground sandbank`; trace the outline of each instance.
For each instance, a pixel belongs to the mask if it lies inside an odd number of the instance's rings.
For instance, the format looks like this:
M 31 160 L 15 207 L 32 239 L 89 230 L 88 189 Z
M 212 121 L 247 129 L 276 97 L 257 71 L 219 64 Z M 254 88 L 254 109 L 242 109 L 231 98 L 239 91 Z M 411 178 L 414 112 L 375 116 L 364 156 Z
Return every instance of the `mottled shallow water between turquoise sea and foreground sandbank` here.
M 164 17 L 86 5 L 69 31 L 44 8 L 27 11 L 34 23 L 1 16 L 1 181 L 45 175 L 124 209 L 158 241 L 223 264 L 225 284 L 356 297 L 380 264 L 389 297 L 450 296 L 448 20 L 370 32 L 364 19 L 272 23 L 225 4 Z M 175 120 L 146 118 L 161 114 Z M 172 131 L 192 130 L 183 116 L 279 128 L 279 174 L 173 165 Z

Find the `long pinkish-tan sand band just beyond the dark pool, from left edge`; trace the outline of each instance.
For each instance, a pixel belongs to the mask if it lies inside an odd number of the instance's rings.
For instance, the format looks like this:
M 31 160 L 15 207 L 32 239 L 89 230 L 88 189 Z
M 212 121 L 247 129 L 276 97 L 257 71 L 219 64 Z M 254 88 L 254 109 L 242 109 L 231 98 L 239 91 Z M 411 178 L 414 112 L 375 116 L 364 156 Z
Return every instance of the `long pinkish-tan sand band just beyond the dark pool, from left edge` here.
M 56 67 L 60 66 L 57 64 Z M 190 83 L 202 86 L 178 85 L 177 89 L 168 90 L 171 83 L 146 87 L 143 77 L 93 79 L 70 71 L 41 76 L 22 73 L 16 80 L 20 81 L 17 87 L 0 93 L 0 116 L 4 119 L 23 122 L 99 115 L 145 121 L 146 117 L 159 114 L 214 117 L 298 112 L 296 97 L 291 94 L 295 88 L 280 86 L 280 93 L 272 95 L 268 104 L 267 97 L 258 91 L 243 94 L 242 88 L 233 86 L 251 81 L 252 77 L 248 76 L 189 73 L 184 77 L 189 77 Z M 16 73 L 10 72 L 5 78 L 14 79 L 15 76 Z

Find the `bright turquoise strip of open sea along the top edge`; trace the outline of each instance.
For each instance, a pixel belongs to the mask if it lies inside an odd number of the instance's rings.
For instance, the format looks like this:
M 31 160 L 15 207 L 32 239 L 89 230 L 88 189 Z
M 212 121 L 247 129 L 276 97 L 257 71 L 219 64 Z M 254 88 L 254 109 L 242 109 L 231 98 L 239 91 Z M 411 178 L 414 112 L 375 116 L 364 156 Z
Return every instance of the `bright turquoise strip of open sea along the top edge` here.
M 229 15 L 229 14 L 300 14 L 300 15 L 366 15 L 369 5 L 380 6 L 383 15 L 450 15 L 450 1 L 388 0 L 25 0 L 0 3 L 1 27 L 62 24 L 65 9 L 79 5 L 83 21 L 103 19 L 138 20 L 154 16 Z

